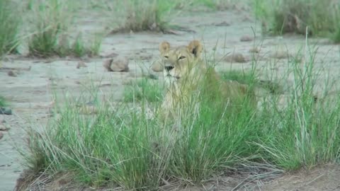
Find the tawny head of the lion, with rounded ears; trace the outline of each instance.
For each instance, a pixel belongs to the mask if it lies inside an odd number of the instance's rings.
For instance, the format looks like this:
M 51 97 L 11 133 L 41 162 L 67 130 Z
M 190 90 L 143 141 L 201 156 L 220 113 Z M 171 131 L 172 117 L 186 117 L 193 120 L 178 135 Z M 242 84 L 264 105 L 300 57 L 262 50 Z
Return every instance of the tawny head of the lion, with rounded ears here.
M 195 73 L 200 67 L 200 54 L 203 46 L 198 40 L 191 41 L 187 46 L 171 47 L 169 42 L 159 45 L 162 63 L 164 66 L 164 79 L 168 83 L 179 83 L 185 77 Z

